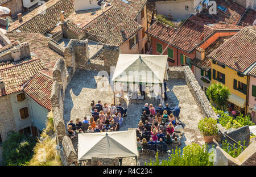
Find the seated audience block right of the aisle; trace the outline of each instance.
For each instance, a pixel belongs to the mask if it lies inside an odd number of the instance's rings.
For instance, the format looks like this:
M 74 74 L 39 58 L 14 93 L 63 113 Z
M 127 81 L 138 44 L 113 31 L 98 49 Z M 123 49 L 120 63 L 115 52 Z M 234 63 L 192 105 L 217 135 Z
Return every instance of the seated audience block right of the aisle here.
M 180 145 L 180 136 L 183 135 L 183 126 L 179 122 L 181 107 L 170 108 L 169 104 L 163 107 L 161 104 L 154 108 L 146 103 L 142 107 L 141 121 L 137 129 L 137 148 L 156 150 L 161 145 L 163 151 L 167 145 Z

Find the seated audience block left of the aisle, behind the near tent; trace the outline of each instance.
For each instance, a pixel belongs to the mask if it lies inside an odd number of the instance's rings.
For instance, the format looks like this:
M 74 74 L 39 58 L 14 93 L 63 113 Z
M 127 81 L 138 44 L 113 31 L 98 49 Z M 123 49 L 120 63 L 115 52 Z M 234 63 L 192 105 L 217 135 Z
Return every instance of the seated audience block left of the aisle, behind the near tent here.
M 92 108 L 92 117 L 89 120 L 86 116 L 83 121 L 80 121 L 79 118 L 76 119 L 76 123 L 70 120 L 68 124 L 68 135 L 71 138 L 76 137 L 77 133 L 119 131 L 119 128 L 123 124 L 123 117 L 127 115 L 127 109 L 124 109 L 121 103 L 117 106 L 114 104 L 108 106 L 107 103 L 102 105 L 101 101 L 98 101 L 97 104 L 94 104 L 94 101 L 92 101 L 90 106 Z M 83 129 L 83 124 L 87 124 L 88 127 Z

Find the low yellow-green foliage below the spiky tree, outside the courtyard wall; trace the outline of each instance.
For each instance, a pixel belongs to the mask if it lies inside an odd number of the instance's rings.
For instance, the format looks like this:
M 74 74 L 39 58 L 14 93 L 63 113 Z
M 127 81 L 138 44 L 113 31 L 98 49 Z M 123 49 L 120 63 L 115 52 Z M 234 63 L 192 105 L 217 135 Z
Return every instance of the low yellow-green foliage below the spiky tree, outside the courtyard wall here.
M 213 111 L 216 114 L 221 115 L 218 121 L 220 122 L 222 127 L 224 127 L 225 129 L 240 128 L 246 125 L 248 126 L 254 125 L 254 123 L 250 121 L 249 115 L 246 115 L 245 117 L 243 117 L 242 113 L 240 113 L 240 115 L 237 116 L 236 119 L 234 119 L 234 117 L 229 116 L 229 114 L 225 113 L 224 111 L 218 110 L 216 108 L 213 108 Z

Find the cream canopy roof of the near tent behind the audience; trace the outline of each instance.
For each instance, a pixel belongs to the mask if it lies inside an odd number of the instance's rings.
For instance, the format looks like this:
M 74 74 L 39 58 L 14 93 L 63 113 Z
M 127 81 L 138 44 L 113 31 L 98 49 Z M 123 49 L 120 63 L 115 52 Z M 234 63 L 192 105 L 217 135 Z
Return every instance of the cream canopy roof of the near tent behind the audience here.
M 78 159 L 138 156 L 136 131 L 82 133 L 78 136 Z

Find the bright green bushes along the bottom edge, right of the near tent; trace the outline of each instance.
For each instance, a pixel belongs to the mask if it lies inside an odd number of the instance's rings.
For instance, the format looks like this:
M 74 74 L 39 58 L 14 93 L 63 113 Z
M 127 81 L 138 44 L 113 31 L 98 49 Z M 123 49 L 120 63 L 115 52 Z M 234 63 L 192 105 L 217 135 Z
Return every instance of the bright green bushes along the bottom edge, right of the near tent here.
M 209 146 L 198 144 L 191 144 L 183 148 L 181 154 L 180 148 L 172 150 L 171 157 L 168 160 L 159 161 L 158 153 L 156 153 L 156 160 L 146 163 L 146 166 L 212 166 L 214 151 L 209 152 Z M 209 161 L 212 159 L 212 161 Z

